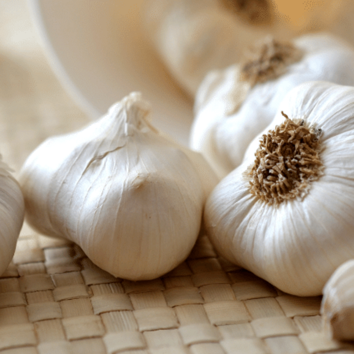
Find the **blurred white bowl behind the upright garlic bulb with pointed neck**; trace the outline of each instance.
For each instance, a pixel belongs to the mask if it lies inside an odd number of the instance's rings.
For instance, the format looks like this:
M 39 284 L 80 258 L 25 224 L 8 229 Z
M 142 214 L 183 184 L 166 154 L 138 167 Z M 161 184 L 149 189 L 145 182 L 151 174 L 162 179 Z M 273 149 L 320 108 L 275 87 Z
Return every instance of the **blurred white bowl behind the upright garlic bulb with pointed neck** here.
M 151 102 L 152 123 L 188 144 L 193 103 L 144 36 L 144 0 L 28 2 L 55 73 L 92 118 L 141 91 Z

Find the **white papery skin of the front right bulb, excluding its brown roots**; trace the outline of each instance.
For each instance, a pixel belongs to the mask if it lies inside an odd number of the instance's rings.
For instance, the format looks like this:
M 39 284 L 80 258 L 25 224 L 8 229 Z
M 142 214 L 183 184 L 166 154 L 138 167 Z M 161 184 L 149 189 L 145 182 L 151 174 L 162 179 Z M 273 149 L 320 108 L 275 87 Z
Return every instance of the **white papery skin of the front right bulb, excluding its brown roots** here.
M 207 199 L 205 223 L 215 249 L 229 261 L 294 295 L 320 295 L 333 271 L 354 258 L 354 88 L 326 82 L 290 91 L 262 133 L 289 118 L 322 129 L 324 174 L 303 199 L 268 205 L 249 192 L 243 163 Z M 260 134 L 261 135 L 261 134 Z

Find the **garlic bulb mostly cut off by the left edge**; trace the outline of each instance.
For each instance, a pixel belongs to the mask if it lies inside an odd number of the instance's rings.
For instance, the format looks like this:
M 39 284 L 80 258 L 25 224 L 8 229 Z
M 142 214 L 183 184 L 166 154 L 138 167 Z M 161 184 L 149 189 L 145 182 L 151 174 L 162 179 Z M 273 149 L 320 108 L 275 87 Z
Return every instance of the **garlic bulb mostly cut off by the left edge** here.
M 24 214 L 25 203 L 20 185 L 0 155 L 0 275 L 15 253 Z

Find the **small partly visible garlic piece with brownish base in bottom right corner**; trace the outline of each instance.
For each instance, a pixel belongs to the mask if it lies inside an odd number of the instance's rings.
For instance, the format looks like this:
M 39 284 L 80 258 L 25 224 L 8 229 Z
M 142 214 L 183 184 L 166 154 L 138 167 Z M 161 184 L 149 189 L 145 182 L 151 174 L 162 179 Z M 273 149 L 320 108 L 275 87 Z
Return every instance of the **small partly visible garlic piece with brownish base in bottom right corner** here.
M 339 266 L 324 286 L 324 331 L 337 340 L 354 340 L 354 260 Z

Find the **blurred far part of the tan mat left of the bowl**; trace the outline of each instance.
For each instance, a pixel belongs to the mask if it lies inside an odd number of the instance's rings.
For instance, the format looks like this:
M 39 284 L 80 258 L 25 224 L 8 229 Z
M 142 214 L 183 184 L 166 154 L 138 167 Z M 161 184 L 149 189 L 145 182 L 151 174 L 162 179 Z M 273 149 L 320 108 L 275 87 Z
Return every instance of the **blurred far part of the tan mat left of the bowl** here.
M 0 152 L 15 170 L 47 136 L 89 121 L 49 65 L 26 0 L 0 1 Z M 40 127 L 40 128 L 39 128 Z

